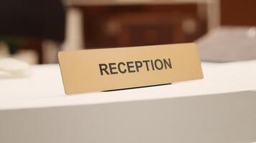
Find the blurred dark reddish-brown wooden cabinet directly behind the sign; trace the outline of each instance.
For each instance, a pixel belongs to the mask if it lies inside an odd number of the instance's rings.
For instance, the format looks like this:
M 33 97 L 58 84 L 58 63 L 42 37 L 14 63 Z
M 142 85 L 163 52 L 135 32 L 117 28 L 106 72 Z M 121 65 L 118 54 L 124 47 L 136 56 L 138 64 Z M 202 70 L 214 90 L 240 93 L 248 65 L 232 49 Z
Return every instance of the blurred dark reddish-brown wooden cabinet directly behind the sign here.
M 78 6 L 86 48 L 189 42 L 206 33 L 198 4 Z

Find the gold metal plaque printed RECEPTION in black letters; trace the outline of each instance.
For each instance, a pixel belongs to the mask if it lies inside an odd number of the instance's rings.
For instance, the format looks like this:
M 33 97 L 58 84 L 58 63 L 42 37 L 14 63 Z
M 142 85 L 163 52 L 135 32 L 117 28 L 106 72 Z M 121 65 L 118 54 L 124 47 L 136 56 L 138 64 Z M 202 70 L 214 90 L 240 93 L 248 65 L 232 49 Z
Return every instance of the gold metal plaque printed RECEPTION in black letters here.
M 202 79 L 196 44 L 60 51 L 66 94 Z

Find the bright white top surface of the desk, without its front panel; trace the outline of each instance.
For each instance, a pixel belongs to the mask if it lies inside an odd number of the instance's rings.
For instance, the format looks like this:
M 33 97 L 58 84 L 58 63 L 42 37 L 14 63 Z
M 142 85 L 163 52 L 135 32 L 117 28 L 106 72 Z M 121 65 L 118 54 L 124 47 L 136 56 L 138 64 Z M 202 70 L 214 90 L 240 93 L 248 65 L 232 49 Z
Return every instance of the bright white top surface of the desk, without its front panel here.
M 29 77 L 0 79 L 0 110 L 102 104 L 256 89 L 256 60 L 202 63 L 204 79 L 170 85 L 65 96 L 57 64 L 31 66 Z M 91 81 L 92 82 L 92 81 Z

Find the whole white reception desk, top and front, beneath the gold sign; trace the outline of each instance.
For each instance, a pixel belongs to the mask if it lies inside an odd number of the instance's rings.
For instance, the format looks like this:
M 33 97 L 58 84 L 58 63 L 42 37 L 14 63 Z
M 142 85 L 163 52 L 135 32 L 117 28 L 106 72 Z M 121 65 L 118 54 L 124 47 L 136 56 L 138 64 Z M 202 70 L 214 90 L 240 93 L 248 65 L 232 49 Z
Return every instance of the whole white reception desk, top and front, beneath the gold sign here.
M 0 80 L 0 142 L 256 142 L 256 61 L 202 68 L 202 80 L 65 96 L 57 64 L 32 66 Z

